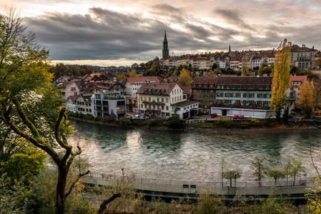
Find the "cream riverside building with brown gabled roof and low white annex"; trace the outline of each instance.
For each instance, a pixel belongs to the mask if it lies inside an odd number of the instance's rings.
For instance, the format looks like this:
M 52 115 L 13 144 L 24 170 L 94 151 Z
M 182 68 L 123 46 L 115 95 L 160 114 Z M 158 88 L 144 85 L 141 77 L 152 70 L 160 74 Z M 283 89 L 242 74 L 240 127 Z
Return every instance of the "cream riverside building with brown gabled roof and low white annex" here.
M 139 113 L 148 116 L 170 117 L 179 115 L 186 119 L 198 108 L 195 101 L 187 101 L 187 95 L 177 83 L 145 83 L 137 91 Z

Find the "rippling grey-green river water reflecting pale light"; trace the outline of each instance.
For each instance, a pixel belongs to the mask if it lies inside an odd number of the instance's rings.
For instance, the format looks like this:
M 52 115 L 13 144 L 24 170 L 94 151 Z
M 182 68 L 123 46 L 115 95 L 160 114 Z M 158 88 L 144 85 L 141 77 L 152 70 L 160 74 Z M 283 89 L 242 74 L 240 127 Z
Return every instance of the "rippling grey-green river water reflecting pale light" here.
M 280 131 L 155 131 L 102 126 L 81 121 L 69 141 L 79 141 L 82 157 L 97 173 L 182 180 L 220 180 L 219 163 L 242 170 L 240 180 L 253 180 L 250 161 L 265 157 L 281 166 L 290 156 L 302 159 L 308 176 L 315 175 L 310 158 L 321 149 L 318 129 Z M 79 140 L 80 139 L 80 140 Z M 321 166 L 319 160 L 318 165 Z

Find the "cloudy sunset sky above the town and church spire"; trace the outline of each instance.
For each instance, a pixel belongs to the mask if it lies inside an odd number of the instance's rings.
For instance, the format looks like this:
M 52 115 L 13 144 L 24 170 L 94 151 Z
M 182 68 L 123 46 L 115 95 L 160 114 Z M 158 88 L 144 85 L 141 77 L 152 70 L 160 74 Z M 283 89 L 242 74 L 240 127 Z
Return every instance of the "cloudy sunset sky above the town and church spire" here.
M 169 54 L 273 49 L 285 38 L 321 49 L 320 0 L 2 0 L 53 63 L 131 66 Z M 4 11 L 1 11 L 3 13 Z

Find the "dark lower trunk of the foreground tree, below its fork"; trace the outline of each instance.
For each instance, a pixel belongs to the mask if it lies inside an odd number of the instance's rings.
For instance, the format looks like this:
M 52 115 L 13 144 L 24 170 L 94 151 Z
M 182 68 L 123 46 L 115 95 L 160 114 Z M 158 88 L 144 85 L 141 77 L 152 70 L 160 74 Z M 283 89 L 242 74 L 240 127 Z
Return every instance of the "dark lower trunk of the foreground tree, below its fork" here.
M 67 172 L 64 167 L 58 167 L 58 181 L 56 185 L 56 214 L 64 214 L 64 191 L 66 189 Z

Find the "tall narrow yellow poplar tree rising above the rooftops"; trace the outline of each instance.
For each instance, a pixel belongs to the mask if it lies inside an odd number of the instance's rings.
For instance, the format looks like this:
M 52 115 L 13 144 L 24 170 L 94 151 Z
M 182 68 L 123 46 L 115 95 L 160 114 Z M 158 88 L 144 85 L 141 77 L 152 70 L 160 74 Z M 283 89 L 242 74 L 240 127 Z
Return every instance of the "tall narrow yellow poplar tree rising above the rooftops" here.
M 290 52 L 291 43 L 285 39 L 281 42 L 275 54 L 271 103 L 278 120 L 281 118 L 282 108 L 285 105 L 285 91 L 290 84 Z

